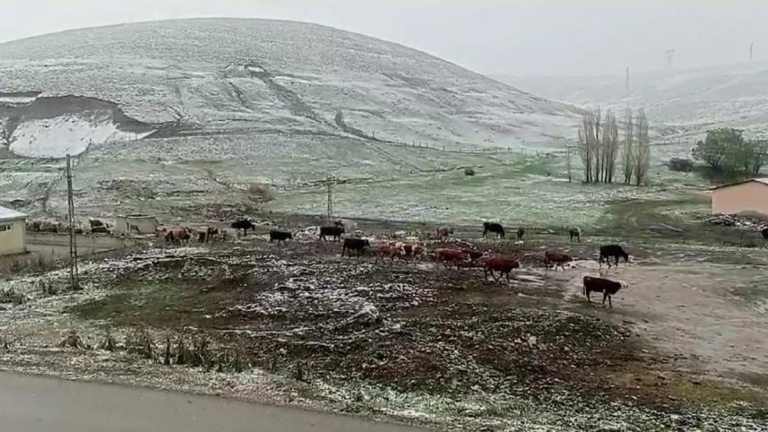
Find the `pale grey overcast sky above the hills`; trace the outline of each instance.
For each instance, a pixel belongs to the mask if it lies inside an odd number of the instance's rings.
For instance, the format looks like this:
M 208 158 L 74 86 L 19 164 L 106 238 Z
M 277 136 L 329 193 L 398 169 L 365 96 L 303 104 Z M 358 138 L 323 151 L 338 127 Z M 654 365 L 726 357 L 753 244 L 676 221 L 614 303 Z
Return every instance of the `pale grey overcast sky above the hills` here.
M 768 61 L 765 0 L 25 0 L 3 1 L 0 41 L 165 18 L 312 21 L 427 51 L 485 74 L 594 75 Z M 463 3 L 463 5 L 462 5 Z M 573 4 L 581 4 L 581 7 Z M 765 5 L 760 5 L 760 4 Z M 385 5 L 386 4 L 386 5 Z

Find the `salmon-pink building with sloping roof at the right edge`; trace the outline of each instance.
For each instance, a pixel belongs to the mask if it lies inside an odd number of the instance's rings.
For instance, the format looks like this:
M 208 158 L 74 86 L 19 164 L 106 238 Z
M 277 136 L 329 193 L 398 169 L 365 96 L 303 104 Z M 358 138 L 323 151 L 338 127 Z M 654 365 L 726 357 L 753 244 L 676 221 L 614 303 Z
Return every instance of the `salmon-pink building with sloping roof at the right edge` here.
M 768 215 L 768 178 L 744 180 L 708 189 L 712 213 L 756 212 Z

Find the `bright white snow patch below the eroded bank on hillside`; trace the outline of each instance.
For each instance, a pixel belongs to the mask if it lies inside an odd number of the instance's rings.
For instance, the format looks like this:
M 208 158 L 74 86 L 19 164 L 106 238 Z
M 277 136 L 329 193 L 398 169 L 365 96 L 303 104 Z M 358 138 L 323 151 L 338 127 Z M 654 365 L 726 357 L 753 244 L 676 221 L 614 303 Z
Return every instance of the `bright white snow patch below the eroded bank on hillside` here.
M 151 132 L 133 134 L 118 129 L 106 114 L 66 115 L 31 120 L 20 124 L 13 133 L 11 151 L 26 157 L 77 156 L 91 144 L 137 140 Z

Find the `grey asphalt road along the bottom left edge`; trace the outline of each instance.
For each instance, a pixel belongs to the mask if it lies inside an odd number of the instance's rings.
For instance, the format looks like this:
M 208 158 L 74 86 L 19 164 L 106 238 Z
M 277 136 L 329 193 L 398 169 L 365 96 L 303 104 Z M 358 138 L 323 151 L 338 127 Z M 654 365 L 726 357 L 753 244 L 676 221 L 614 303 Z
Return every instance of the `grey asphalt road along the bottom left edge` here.
M 425 432 L 216 397 L 0 373 L 0 429 L 24 432 Z

